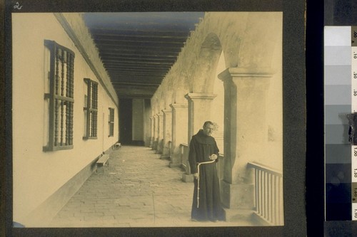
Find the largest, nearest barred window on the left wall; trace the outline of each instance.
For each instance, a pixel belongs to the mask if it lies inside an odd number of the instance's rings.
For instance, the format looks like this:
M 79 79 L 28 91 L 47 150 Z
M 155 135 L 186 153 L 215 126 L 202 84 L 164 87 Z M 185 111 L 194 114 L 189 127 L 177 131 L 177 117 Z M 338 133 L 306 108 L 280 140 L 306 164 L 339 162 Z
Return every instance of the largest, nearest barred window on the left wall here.
M 49 114 L 44 151 L 73 148 L 74 52 L 55 41 L 44 41 L 49 51 L 49 77 L 44 94 Z

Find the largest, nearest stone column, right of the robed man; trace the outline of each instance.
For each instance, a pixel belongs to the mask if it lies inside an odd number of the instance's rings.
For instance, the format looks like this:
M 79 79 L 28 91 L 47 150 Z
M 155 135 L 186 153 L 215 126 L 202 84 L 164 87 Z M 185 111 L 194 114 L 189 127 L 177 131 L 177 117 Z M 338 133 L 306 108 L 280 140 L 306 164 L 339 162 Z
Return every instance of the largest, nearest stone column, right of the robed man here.
M 253 208 L 253 174 L 248 162 L 264 157 L 267 142 L 266 96 L 270 70 L 228 68 L 218 75 L 224 85 L 223 204 Z

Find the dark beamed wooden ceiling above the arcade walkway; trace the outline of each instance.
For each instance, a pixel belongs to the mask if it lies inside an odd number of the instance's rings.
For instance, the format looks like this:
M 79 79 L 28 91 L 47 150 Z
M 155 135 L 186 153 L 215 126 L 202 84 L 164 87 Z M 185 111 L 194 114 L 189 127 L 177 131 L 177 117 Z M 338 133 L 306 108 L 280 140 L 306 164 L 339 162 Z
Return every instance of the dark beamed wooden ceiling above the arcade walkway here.
M 120 98 L 151 98 L 203 12 L 86 13 L 84 21 Z

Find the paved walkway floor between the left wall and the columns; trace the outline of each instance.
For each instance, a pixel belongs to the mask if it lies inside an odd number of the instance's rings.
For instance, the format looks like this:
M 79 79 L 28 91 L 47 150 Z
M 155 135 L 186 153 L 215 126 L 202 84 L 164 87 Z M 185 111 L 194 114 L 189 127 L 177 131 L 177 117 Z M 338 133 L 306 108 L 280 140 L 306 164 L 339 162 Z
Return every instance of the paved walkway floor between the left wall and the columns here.
M 170 168 L 150 148 L 123 146 L 110 154 L 104 174 L 92 174 L 51 226 L 237 226 L 192 222 L 193 183 L 181 177 L 180 168 Z

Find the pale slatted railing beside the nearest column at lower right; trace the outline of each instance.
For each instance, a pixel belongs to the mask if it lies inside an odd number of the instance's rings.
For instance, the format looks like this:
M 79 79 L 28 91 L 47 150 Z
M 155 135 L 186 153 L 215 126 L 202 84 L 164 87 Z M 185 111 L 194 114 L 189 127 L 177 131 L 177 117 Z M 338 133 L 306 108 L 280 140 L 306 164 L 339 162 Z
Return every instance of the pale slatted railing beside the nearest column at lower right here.
M 256 214 L 273 226 L 283 225 L 283 174 L 253 162 L 247 167 L 254 170 Z

